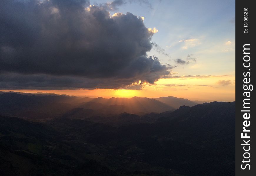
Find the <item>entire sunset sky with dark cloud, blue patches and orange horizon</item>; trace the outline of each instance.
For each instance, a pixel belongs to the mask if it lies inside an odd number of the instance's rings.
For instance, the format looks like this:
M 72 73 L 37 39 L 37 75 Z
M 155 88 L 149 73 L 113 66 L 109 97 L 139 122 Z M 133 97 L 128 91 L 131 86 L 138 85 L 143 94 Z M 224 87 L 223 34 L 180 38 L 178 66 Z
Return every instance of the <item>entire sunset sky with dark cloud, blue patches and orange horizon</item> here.
M 0 90 L 235 101 L 235 1 L 0 2 Z

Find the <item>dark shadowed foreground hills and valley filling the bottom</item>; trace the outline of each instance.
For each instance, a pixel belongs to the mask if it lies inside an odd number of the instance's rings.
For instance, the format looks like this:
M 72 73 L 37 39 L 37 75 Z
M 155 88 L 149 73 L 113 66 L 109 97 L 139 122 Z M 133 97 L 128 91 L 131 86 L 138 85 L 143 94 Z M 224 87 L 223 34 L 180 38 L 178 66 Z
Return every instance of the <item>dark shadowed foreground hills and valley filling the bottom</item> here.
M 66 115 L 77 112 L 97 110 Z M 0 116 L 0 160 L 2 175 L 235 175 L 235 102 L 41 123 Z

